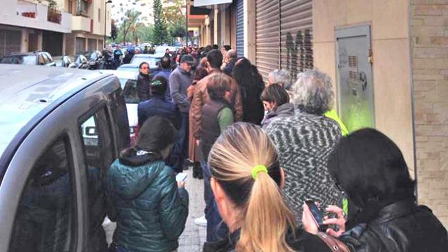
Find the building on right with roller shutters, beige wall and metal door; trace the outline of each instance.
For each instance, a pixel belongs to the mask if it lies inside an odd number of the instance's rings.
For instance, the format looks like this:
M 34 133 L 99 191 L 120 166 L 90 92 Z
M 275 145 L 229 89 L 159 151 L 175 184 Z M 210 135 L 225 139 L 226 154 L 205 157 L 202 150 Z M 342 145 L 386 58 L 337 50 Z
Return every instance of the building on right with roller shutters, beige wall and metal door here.
M 448 227 L 448 1 L 200 2 L 228 2 L 201 6 L 210 10 L 202 20 L 190 10 L 201 45 L 228 42 L 265 80 L 274 69 L 294 79 L 311 68 L 327 73 L 349 130 L 391 137 L 416 179 L 418 203 Z M 214 11 L 229 8 L 234 23 Z

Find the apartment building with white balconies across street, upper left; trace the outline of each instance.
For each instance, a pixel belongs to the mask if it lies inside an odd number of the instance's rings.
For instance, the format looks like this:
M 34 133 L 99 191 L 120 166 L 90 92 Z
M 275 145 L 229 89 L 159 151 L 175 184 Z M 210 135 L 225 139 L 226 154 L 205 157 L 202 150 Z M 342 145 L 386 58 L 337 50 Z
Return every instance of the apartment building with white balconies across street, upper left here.
M 0 56 L 45 50 L 53 56 L 102 49 L 110 36 L 106 0 L 4 0 L 0 10 Z M 106 17 L 106 20 L 105 20 Z

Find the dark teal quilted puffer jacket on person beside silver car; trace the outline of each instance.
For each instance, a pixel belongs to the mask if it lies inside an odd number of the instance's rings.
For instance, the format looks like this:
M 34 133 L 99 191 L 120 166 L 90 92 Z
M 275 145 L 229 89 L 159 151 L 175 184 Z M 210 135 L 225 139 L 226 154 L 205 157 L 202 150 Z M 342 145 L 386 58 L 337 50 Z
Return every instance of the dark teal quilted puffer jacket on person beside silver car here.
M 147 160 L 145 160 L 145 158 Z M 185 228 L 188 192 L 177 187 L 163 161 L 128 155 L 107 177 L 108 216 L 117 221 L 114 242 L 133 252 L 173 251 Z

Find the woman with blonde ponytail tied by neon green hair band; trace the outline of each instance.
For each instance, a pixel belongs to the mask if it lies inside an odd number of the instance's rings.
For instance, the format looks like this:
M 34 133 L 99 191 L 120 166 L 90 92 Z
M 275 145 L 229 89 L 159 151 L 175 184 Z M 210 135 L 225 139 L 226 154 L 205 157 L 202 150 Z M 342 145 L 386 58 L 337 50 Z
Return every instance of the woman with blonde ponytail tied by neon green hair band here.
M 258 126 L 236 123 L 224 131 L 209 157 L 211 187 L 229 239 L 205 243 L 207 251 L 331 251 L 295 228 L 283 200 L 285 174 L 270 138 Z

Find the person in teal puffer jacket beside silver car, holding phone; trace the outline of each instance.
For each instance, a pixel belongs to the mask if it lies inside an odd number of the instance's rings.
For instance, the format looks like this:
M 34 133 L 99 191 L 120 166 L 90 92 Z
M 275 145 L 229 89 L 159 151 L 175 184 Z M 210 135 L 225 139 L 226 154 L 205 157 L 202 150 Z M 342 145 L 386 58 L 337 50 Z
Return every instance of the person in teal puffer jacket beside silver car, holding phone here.
M 125 150 L 107 176 L 108 217 L 117 221 L 117 252 L 174 251 L 188 216 L 185 182 L 164 162 L 176 142 L 171 122 L 150 117 L 136 146 Z

